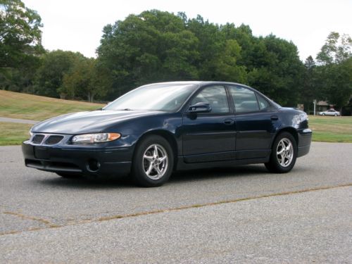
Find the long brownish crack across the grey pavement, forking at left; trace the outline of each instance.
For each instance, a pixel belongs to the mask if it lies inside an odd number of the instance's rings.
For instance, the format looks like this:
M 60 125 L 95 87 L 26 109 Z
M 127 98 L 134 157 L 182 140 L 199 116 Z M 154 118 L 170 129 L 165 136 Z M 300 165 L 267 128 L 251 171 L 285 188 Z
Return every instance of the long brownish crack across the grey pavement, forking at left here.
M 251 201 L 251 200 L 265 199 L 265 198 L 270 198 L 270 197 L 275 197 L 275 196 L 287 196 L 287 195 L 292 195 L 292 194 L 302 194 L 302 193 L 306 193 L 306 192 L 310 192 L 310 191 L 322 191 L 322 190 L 327 190 L 327 189 L 337 189 L 337 188 L 343 188 L 343 187 L 352 187 L 352 183 L 341 184 L 338 186 L 330 186 L 330 187 L 317 187 L 317 188 L 303 189 L 303 190 L 297 190 L 297 191 L 284 191 L 284 192 L 279 192 L 276 194 L 264 194 L 264 195 L 260 195 L 260 196 L 251 196 L 251 197 L 246 197 L 246 198 L 239 198 L 239 199 L 232 199 L 232 200 L 225 200 L 225 201 L 216 201 L 213 203 L 199 203 L 199 204 L 193 204 L 193 205 L 189 205 L 189 206 L 181 206 L 181 207 L 176 207 L 176 208 L 166 208 L 166 209 L 160 209 L 160 210 L 151 210 L 151 211 L 146 211 L 146 212 L 130 213 L 130 214 L 125 214 L 125 215 L 111 215 L 111 216 L 107 216 L 107 217 L 103 217 L 103 218 L 80 220 L 78 222 L 73 222 L 73 223 L 66 224 L 66 225 L 55 225 L 55 224 L 52 224 L 51 222 L 49 222 L 48 220 L 45 220 L 42 218 L 35 218 L 32 216 L 23 215 L 20 213 L 4 212 L 5 214 L 15 215 L 15 216 L 18 216 L 19 218 L 23 218 L 26 220 L 35 220 L 35 221 L 42 222 L 46 225 L 46 227 L 36 227 L 36 228 L 23 230 L 23 231 L 3 232 L 3 233 L 0 233 L 0 236 L 6 235 L 6 234 L 19 234 L 19 233 L 23 233 L 23 232 L 46 230 L 46 229 L 50 229 L 50 228 L 68 227 L 68 226 L 72 226 L 72 225 L 82 225 L 82 224 L 87 224 L 87 223 L 92 223 L 92 222 L 104 222 L 104 221 L 124 219 L 124 218 L 135 218 L 135 217 L 143 216 L 143 215 L 169 213 L 169 212 L 175 212 L 175 211 L 180 211 L 180 210 L 187 210 L 187 209 L 191 209 L 191 208 L 218 206 L 218 205 L 226 204 L 226 203 L 238 203 L 241 201 Z

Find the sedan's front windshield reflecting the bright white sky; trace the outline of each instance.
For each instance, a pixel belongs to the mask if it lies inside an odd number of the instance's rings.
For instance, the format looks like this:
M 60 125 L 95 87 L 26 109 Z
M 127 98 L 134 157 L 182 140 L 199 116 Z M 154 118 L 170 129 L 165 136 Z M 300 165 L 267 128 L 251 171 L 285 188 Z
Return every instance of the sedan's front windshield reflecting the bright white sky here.
M 103 110 L 176 111 L 196 89 L 196 84 L 150 84 L 120 96 Z

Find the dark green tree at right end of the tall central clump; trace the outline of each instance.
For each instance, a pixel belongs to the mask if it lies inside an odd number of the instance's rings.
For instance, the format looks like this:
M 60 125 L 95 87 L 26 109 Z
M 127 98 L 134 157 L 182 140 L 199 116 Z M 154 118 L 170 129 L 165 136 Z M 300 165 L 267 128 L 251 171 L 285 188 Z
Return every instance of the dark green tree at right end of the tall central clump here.
M 297 47 L 270 34 L 254 41 L 248 55 L 249 84 L 285 106 L 296 106 L 304 72 Z

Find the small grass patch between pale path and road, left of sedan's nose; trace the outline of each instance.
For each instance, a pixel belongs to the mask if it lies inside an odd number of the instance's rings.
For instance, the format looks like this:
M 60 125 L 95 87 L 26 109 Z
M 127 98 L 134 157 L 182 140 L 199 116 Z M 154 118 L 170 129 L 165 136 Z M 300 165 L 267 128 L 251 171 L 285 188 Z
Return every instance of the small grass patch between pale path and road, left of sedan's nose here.
M 19 145 L 30 137 L 32 125 L 15 122 L 0 122 L 0 146 Z

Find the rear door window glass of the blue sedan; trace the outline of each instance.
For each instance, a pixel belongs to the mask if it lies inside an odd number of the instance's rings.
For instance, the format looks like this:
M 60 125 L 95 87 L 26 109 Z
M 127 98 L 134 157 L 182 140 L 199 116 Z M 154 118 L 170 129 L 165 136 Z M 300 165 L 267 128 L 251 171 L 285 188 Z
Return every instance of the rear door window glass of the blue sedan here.
M 230 93 L 234 100 L 236 113 L 248 113 L 259 111 L 259 103 L 256 94 L 244 87 L 230 86 Z

